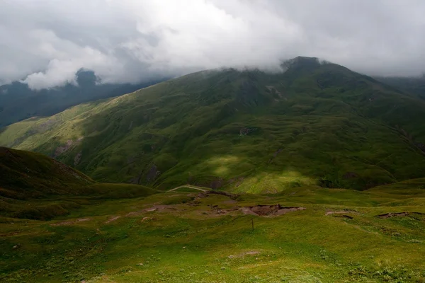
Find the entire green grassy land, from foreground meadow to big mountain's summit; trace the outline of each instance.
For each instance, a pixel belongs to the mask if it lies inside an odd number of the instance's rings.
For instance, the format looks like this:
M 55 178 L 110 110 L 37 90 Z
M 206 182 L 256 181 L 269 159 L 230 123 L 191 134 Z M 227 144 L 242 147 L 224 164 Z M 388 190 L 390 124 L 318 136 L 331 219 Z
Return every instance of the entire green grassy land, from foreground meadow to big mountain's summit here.
M 0 281 L 424 282 L 425 101 L 282 67 L 0 129 Z

